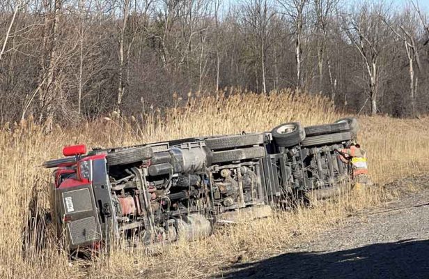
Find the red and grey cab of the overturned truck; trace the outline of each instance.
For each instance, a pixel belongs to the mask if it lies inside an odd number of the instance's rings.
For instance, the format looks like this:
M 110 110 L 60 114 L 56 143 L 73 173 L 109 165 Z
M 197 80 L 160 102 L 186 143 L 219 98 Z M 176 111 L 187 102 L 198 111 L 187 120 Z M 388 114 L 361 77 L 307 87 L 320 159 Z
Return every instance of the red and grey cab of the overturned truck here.
M 106 237 L 102 227 L 114 214 L 107 190 L 106 155 L 88 156 L 84 145 L 65 146 L 63 155 L 45 166 L 57 167 L 49 191 L 51 211 L 57 234 L 67 236 L 60 239 L 68 239 L 66 245 L 73 250 L 100 243 Z

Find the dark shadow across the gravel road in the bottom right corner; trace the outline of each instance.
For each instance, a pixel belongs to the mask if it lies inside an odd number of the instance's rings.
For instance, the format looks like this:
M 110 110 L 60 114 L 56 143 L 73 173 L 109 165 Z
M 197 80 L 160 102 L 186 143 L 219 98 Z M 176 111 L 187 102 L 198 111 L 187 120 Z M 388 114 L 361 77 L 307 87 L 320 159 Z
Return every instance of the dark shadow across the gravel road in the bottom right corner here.
M 429 240 L 337 252 L 291 252 L 235 264 L 219 278 L 429 278 Z

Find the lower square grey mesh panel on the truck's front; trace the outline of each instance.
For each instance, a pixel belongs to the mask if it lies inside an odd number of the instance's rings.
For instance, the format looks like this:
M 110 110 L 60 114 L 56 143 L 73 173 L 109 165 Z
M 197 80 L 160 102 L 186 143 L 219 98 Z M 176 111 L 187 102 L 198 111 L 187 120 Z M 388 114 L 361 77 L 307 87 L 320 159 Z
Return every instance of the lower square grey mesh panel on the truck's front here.
M 100 239 L 94 216 L 68 223 L 68 230 L 72 245 L 75 246 Z

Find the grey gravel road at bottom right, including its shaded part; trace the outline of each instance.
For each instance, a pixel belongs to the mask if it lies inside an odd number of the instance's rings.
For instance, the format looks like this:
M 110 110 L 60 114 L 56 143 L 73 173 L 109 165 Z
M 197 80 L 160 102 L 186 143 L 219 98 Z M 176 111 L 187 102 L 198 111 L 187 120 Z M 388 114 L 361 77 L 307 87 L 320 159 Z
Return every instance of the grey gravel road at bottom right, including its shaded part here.
M 429 190 L 348 218 L 282 255 L 236 264 L 220 277 L 429 278 Z

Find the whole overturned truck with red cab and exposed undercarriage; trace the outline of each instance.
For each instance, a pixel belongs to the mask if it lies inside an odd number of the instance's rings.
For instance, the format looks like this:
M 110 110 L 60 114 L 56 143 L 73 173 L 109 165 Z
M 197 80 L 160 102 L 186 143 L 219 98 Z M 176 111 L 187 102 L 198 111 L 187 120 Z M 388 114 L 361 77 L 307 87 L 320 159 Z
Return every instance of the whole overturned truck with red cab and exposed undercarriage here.
M 341 150 L 357 120 L 271 132 L 193 137 L 86 151 L 66 146 L 50 188 L 52 220 L 70 250 L 193 239 L 237 212 L 270 216 L 309 193 L 329 197 L 348 185 Z

